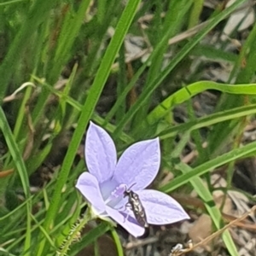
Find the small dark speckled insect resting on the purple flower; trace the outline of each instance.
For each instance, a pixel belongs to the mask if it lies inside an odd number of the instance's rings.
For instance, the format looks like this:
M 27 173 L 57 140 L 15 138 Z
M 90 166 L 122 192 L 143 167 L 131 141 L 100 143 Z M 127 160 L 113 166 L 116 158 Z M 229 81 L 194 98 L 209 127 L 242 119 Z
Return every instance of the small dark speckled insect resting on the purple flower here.
M 133 185 L 135 185 L 135 183 L 132 184 L 131 187 Z M 134 213 L 138 224 L 147 228 L 148 221 L 147 221 L 145 209 L 143 207 L 142 202 L 140 201 L 139 196 L 131 190 L 131 187 L 129 189 L 125 189 L 125 192 L 124 192 L 124 197 L 128 196 L 128 203 L 126 204 L 126 207 L 131 207 L 131 210 Z

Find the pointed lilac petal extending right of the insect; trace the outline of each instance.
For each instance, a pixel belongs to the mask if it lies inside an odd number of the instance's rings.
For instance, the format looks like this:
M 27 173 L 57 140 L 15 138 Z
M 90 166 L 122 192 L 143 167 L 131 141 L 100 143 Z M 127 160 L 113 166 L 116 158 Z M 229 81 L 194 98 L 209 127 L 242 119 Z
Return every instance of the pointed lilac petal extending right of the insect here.
M 157 190 L 137 191 L 149 224 L 172 224 L 189 218 L 183 207 L 171 196 Z

